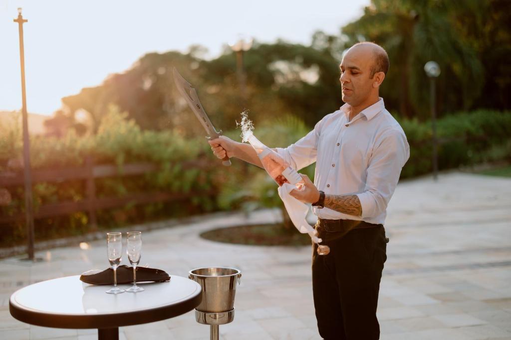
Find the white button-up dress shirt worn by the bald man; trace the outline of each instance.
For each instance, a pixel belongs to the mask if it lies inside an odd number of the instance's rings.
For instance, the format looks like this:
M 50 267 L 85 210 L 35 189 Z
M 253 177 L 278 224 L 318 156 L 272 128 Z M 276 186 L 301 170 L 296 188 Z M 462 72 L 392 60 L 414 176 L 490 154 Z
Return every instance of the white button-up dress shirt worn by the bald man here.
M 318 190 L 327 195 L 356 194 L 360 199 L 361 217 L 313 207 L 319 218 L 384 224 L 410 147 L 382 98 L 351 121 L 350 110 L 344 104 L 324 116 L 307 136 L 276 150 L 296 170 L 316 162 L 314 185 Z

